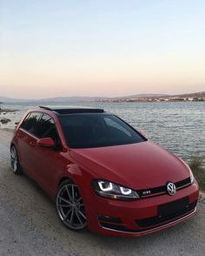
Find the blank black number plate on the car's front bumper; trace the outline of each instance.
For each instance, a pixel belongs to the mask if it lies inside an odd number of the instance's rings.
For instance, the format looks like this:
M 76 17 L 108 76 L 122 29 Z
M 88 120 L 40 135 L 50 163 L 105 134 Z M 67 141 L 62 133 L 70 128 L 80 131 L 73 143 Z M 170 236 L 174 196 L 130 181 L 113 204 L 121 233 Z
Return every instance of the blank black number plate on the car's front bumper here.
M 184 199 L 179 199 L 174 202 L 159 205 L 158 207 L 158 216 L 159 217 L 167 217 L 173 215 L 177 212 L 182 212 L 186 208 L 188 208 L 188 197 Z

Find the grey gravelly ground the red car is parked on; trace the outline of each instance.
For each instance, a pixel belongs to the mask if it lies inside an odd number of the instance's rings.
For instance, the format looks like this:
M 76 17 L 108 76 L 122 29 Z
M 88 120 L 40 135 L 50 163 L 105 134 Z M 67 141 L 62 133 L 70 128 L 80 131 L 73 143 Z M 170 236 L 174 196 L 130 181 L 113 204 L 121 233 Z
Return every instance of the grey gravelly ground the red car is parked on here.
M 205 255 L 205 200 L 193 219 L 140 238 L 72 232 L 50 198 L 10 169 L 10 131 L 0 130 L 0 255 Z

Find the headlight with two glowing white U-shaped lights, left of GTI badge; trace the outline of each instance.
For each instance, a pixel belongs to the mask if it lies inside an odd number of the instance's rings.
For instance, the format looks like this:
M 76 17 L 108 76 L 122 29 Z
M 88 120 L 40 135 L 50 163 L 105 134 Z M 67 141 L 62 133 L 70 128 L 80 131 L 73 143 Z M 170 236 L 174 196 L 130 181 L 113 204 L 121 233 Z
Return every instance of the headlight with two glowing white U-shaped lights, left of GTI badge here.
M 96 194 L 104 198 L 118 200 L 139 199 L 139 195 L 136 191 L 122 185 L 116 185 L 115 183 L 107 180 L 96 179 L 93 180 L 92 184 Z

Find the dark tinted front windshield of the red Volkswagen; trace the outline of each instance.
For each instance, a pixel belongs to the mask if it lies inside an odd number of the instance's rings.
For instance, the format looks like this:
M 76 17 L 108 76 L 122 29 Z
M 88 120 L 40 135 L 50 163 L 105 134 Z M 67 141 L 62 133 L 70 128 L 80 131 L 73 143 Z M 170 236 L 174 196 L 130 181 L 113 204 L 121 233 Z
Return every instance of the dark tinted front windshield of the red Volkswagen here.
M 70 148 L 125 145 L 146 140 L 114 115 L 66 115 L 60 120 Z

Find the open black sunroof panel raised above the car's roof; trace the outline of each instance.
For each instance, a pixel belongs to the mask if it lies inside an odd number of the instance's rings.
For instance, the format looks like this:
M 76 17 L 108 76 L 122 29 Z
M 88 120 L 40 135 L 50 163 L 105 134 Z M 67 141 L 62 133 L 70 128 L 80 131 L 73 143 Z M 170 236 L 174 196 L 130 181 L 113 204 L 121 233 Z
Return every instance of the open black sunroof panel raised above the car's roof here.
M 104 113 L 103 109 L 98 108 L 50 108 L 47 106 L 39 106 L 39 108 L 52 111 L 56 115 L 81 114 L 81 113 Z

